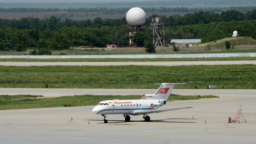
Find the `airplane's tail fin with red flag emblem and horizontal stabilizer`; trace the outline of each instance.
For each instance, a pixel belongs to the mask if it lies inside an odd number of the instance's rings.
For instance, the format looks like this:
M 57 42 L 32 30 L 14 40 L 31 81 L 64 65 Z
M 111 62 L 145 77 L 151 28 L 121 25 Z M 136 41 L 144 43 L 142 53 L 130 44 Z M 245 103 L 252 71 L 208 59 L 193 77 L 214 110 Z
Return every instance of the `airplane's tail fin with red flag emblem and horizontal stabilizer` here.
M 161 85 L 154 95 L 145 95 L 145 99 L 168 99 L 174 85 L 185 85 L 187 83 L 154 83 L 155 85 Z

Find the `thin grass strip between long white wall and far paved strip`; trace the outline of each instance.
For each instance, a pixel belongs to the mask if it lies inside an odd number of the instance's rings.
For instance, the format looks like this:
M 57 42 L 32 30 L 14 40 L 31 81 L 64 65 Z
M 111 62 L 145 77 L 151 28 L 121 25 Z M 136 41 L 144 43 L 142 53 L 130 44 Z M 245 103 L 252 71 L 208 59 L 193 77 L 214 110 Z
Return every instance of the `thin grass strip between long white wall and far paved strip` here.
M 63 62 L 78 62 L 78 61 L 234 61 L 234 60 L 256 60 L 256 57 L 230 57 L 230 58 L 74 58 L 74 59 L 0 59 L 0 61 L 63 61 Z

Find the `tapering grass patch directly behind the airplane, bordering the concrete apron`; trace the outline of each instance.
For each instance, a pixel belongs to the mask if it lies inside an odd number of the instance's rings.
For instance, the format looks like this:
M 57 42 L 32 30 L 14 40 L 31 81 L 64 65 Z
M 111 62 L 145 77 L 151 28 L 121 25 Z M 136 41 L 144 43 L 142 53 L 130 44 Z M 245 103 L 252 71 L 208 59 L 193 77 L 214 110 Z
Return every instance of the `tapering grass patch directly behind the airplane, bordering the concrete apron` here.
M 141 99 L 140 95 L 75 95 L 65 97 L 43 98 L 37 95 L 0 95 L 0 110 L 51 108 L 67 106 L 92 106 L 109 99 Z M 215 98 L 213 95 L 170 95 L 169 101 Z M 19 99 L 17 99 L 19 98 Z M 21 99 L 24 98 L 24 99 Z

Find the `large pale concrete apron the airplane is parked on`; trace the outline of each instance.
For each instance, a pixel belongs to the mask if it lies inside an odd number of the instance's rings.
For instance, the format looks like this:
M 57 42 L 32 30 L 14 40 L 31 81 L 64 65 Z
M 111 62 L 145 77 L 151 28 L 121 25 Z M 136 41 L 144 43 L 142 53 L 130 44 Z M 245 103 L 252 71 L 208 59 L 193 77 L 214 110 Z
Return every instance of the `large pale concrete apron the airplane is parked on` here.
M 141 115 L 131 116 L 131 122 L 124 122 L 122 115 L 107 115 L 105 124 L 101 115 L 82 107 L 1 110 L 0 140 L 3 144 L 255 144 L 255 90 L 173 91 L 209 92 L 220 98 L 167 102 L 163 108 L 194 108 L 150 114 L 151 122 L 144 122 Z M 234 118 L 240 104 L 247 123 L 228 124 L 228 116 Z

